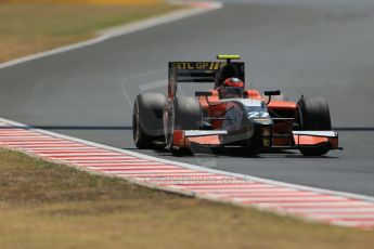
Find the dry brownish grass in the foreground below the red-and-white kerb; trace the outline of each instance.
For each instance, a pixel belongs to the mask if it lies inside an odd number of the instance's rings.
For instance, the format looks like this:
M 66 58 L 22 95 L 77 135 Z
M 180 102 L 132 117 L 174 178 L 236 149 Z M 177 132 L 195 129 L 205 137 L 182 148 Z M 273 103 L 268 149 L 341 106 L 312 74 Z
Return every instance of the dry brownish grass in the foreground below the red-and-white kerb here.
M 369 231 L 149 189 L 0 149 L 0 245 L 17 248 L 372 248 Z

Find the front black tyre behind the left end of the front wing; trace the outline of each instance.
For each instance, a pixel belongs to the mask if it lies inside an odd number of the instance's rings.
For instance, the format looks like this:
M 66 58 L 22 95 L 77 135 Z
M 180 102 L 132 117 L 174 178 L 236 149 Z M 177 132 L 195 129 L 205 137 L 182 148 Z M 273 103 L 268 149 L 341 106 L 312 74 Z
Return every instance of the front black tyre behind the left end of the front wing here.
M 188 148 L 172 146 L 172 133 L 175 130 L 198 130 L 202 123 L 202 108 L 198 101 L 191 96 L 176 97 L 168 110 L 167 146 L 176 156 L 191 154 Z

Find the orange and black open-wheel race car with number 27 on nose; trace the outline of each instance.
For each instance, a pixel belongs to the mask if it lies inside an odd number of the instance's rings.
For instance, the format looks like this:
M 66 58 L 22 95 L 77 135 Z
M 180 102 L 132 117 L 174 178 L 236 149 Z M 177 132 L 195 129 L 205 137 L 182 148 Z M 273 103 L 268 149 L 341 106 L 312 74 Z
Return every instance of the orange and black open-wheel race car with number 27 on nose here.
M 245 89 L 240 55 L 218 62 L 170 62 L 167 96 L 139 94 L 132 115 L 138 148 L 170 149 L 175 155 L 198 147 L 241 147 L 250 153 L 299 149 L 321 156 L 338 147 L 324 97 L 285 101 L 280 91 Z M 177 96 L 178 83 L 210 82 L 195 96 Z

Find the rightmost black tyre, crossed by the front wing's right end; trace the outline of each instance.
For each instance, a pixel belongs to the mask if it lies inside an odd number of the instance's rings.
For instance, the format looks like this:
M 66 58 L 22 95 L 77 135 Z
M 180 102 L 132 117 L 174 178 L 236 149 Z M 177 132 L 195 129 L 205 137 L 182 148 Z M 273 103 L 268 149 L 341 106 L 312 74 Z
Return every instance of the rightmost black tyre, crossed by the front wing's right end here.
M 302 97 L 298 101 L 299 119 L 301 122 L 301 130 L 305 131 L 328 131 L 332 129 L 331 117 L 327 102 L 324 97 Z M 330 150 L 330 147 L 318 146 L 300 148 L 304 156 L 322 156 Z

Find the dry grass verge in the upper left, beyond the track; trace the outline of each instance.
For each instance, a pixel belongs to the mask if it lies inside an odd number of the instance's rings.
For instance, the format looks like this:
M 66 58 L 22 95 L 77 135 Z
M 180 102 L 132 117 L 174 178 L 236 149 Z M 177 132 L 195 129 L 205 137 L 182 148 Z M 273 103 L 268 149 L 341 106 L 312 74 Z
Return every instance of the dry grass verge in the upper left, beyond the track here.
M 133 4 L 118 4 L 120 1 L 115 0 L 101 0 L 101 4 L 79 4 L 89 2 L 82 0 L 61 4 L 22 2 L 0 0 L 0 62 L 82 41 L 101 29 L 182 8 L 156 0 Z

